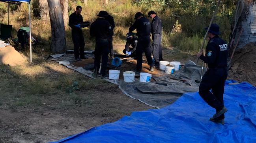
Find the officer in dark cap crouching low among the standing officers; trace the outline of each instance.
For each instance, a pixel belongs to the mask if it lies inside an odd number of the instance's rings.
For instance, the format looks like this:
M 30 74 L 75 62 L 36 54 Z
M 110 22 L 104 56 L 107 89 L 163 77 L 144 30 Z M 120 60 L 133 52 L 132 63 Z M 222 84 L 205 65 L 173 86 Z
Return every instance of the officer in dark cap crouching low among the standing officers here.
M 138 44 L 138 38 L 133 36 L 131 33 L 126 34 L 126 44 L 125 49 L 123 50 L 123 53 L 126 54 L 126 56 L 129 57 L 135 57 L 135 51 Z M 131 47 L 129 47 L 131 45 Z

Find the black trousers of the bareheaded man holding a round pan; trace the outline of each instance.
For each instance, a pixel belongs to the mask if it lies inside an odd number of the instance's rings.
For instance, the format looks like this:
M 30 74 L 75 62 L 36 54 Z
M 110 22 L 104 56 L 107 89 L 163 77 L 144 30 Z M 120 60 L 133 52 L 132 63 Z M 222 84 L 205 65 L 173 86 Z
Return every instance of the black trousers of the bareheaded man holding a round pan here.
M 82 31 L 72 31 L 75 58 L 84 57 L 84 36 Z

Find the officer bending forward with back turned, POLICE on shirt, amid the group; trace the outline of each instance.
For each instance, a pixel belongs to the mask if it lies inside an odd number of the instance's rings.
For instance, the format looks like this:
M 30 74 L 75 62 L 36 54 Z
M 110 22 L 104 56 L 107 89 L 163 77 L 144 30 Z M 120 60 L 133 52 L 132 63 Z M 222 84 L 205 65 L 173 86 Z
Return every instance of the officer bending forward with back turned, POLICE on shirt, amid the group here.
M 150 71 L 154 71 L 153 62 L 151 58 L 151 49 L 150 49 L 150 22 L 144 17 L 140 12 L 135 14 L 135 22 L 129 28 L 129 33 L 136 29 L 138 35 L 138 44 L 136 47 L 136 71 L 140 72 L 142 69 L 142 54 L 145 52 L 148 65 L 150 66 Z

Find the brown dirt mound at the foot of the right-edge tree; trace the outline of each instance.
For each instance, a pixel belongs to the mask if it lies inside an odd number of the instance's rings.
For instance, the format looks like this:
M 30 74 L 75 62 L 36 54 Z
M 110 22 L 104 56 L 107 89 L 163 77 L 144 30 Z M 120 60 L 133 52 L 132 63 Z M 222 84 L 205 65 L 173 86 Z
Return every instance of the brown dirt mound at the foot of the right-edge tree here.
M 235 51 L 228 78 L 239 82 L 247 81 L 256 86 L 256 46 L 249 43 Z

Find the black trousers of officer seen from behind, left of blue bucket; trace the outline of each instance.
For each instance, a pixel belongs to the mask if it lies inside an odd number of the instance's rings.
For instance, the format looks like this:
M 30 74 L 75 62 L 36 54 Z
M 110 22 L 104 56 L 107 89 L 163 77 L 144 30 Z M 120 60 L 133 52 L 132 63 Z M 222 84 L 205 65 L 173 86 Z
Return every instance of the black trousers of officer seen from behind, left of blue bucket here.
M 106 74 L 109 54 L 108 40 L 97 40 L 94 50 L 94 69 L 99 74 L 99 68 L 101 66 L 101 75 Z M 102 58 L 102 60 L 101 60 Z

